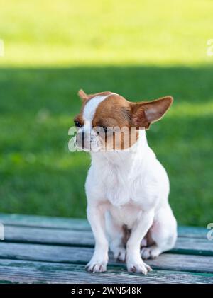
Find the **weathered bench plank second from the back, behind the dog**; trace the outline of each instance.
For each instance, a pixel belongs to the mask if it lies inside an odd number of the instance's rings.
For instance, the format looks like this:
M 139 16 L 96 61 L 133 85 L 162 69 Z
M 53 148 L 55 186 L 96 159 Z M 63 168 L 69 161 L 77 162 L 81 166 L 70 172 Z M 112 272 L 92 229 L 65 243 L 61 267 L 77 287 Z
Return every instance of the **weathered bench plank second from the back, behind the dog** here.
M 5 240 L 21 243 L 49 243 L 69 246 L 94 246 L 92 231 L 70 229 L 47 229 L 35 227 L 5 227 Z M 178 237 L 173 248 L 175 253 L 200 254 L 213 256 L 213 241 L 207 238 Z

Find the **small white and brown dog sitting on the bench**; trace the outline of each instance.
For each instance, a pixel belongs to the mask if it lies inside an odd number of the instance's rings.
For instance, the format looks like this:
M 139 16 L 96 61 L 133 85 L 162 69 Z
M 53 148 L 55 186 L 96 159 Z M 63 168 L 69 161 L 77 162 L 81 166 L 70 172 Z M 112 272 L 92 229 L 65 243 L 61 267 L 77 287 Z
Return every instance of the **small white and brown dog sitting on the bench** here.
M 129 271 L 146 274 L 151 267 L 143 259 L 170 250 L 177 239 L 168 176 L 146 140 L 146 130 L 163 117 L 173 98 L 133 103 L 108 91 L 78 94 L 82 110 L 75 117 L 76 145 L 92 156 L 85 188 L 95 248 L 86 268 L 106 271 L 110 248 L 114 258 L 126 260 Z M 129 136 L 123 131 L 116 138 L 124 127 Z

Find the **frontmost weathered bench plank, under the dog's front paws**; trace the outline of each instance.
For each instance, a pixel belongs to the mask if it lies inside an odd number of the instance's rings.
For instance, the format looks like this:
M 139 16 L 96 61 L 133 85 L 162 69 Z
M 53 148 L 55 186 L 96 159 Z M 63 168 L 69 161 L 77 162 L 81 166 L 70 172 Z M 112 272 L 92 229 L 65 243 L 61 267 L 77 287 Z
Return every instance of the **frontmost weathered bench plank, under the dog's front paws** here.
M 154 270 L 148 275 L 127 273 L 124 268 L 109 266 L 107 273 L 92 274 L 84 265 L 0 260 L 0 281 L 19 283 L 213 283 L 212 274 L 193 274 Z M 143 287 L 142 287 L 143 289 Z

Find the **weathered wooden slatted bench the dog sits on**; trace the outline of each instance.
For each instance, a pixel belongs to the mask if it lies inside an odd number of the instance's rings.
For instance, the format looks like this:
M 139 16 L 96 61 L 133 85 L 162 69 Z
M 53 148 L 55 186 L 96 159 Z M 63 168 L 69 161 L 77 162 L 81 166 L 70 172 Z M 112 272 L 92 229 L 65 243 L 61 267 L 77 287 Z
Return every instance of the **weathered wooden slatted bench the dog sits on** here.
M 109 258 L 107 273 L 92 274 L 84 265 L 94 238 L 86 220 L 0 214 L 0 283 L 213 283 L 213 241 L 207 229 L 179 227 L 172 251 L 148 260 L 148 275 L 126 272 Z

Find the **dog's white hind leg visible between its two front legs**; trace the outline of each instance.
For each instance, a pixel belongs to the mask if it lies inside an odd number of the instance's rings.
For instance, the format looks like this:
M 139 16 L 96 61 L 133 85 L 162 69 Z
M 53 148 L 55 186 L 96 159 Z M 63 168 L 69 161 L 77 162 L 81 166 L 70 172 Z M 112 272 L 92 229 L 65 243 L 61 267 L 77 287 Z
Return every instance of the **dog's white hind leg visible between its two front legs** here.
M 115 260 L 124 262 L 126 260 L 125 237 L 126 231 L 121 224 L 114 221 L 111 214 L 105 214 L 107 236 L 109 238 L 109 248 Z

